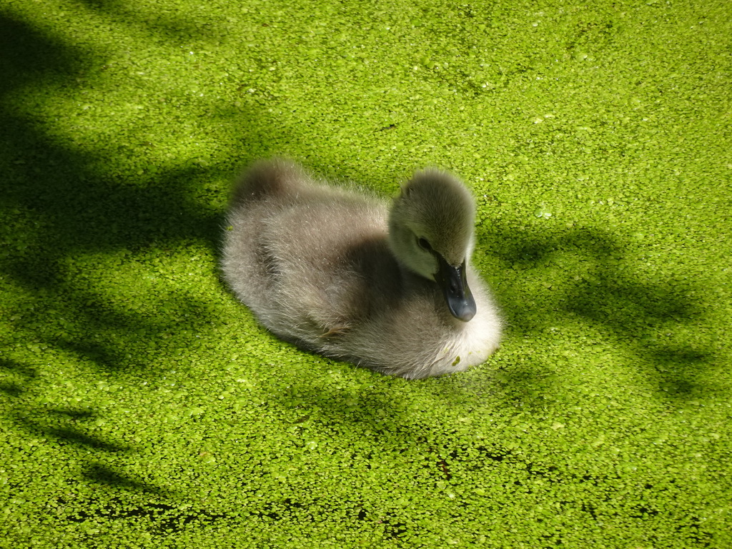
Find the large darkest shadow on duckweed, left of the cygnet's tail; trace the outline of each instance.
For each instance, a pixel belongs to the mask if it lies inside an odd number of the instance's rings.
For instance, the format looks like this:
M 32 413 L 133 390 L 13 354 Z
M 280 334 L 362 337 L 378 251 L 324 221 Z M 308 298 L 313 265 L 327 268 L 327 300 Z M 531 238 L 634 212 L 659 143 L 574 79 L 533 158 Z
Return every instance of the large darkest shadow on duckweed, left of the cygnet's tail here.
M 138 296 L 143 306 L 134 310 L 127 296 L 98 294 L 69 259 L 88 254 L 84 261 L 93 268 L 98 254 L 117 253 L 122 264 L 141 250 L 159 250 L 164 258 L 189 243 L 203 243 L 213 254 L 223 214 L 207 195 L 212 173 L 187 166 L 130 184 L 129 176 L 107 173 L 98 159 L 52 138 L 41 122 L 19 113 L 12 92 L 51 82 L 78 86 L 75 76 L 91 70 L 91 56 L 9 15 L 1 25 L 0 140 L 10 182 L 0 189 L 0 239 L 8 244 L 1 269 L 18 295 L 31 297 L 15 304 L 16 339 L 70 352 L 109 373 L 143 369 L 127 346 L 160 332 L 201 330 L 212 320 L 209 305 L 171 288 L 148 301 Z M 22 384 L 6 389 L 19 394 Z

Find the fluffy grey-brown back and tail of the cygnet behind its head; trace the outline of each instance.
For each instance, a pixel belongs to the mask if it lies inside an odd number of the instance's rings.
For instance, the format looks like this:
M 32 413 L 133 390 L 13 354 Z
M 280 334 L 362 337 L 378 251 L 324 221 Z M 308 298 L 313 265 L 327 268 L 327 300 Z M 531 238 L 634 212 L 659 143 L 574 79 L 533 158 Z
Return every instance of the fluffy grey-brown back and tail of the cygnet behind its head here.
M 272 332 L 315 348 L 398 283 L 386 216 L 381 201 L 315 182 L 296 165 L 255 165 L 234 194 L 225 277 Z

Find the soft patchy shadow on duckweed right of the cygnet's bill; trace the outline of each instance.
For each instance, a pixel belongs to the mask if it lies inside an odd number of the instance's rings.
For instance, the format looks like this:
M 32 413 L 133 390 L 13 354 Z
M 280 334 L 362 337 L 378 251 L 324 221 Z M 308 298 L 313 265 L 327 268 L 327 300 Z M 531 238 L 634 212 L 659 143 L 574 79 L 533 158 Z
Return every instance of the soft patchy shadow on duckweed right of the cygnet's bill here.
M 585 326 L 583 332 L 603 336 L 588 335 L 583 346 L 632 351 L 638 360 L 629 367 L 641 368 L 672 400 L 714 389 L 696 381 L 714 351 L 694 332 L 703 321 L 703 305 L 685 277 L 643 274 L 630 257 L 632 244 L 597 228 L 493 231 L 484 244 L 502 269 L 496 275 L 504 277 L 498 298 L 509 334 L 551 334 L 561 326 L 577 332 L 576 326 Z

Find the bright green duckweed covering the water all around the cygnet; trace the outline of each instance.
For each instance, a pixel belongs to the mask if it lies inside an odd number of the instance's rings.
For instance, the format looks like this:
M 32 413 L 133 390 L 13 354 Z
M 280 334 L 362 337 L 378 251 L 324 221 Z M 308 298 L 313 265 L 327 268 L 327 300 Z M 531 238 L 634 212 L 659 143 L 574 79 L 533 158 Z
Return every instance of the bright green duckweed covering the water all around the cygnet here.
M 6 0 L 0 545 L 726 548 L 725 2 Z M 217 272 L 288 154 L 479 201 L 507 333 L 408 382 Z

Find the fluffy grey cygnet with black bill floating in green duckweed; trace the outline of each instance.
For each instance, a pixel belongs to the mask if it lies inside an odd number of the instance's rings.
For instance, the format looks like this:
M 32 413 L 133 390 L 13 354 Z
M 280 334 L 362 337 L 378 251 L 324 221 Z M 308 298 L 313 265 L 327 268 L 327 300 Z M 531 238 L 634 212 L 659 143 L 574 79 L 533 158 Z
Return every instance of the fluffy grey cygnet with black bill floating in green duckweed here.
M 408 379 L 480 364 L 501 321 L 469 265 L 475 204 L 448 173 L 420 171 L 391 209 L 265 160 L 228 214 L 223 272 L 283 340 Z

